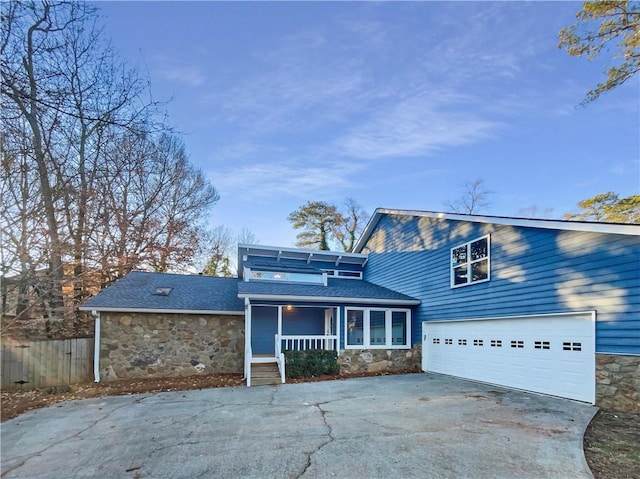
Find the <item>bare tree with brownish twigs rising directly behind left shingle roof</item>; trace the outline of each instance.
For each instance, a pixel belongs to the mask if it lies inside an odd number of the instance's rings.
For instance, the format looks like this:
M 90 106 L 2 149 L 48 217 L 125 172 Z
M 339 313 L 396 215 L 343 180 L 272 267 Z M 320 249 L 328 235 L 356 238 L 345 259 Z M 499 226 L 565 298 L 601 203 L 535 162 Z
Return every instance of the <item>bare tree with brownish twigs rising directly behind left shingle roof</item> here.
M 91 238 L 111 282 L 135 267 L 184 271 L 206 245 L 204 218 L 218 200 L 181 141 L 128 135 L 106 152 L 110 187 Z

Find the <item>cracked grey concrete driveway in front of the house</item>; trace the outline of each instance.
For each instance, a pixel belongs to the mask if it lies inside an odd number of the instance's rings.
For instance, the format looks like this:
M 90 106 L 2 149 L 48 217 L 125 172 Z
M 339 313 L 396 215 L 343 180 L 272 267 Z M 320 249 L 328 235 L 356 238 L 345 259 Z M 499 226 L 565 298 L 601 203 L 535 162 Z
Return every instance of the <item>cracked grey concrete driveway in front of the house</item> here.
M 596 408 L 435 374 L 88 399 L 2 424 L 2 478 L 591 477 Z

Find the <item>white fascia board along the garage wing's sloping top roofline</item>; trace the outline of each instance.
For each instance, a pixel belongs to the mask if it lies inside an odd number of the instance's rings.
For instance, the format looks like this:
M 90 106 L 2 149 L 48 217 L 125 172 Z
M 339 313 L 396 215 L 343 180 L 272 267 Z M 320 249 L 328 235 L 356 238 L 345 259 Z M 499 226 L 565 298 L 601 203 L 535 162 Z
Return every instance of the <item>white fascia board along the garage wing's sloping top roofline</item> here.
M 361 251 L 364 243 L 369 239 L 382 215 L 415 216 L 423 218 L 437 218 L 452 221 L 468 221 L 471 223 L 486 223 L 505 226 L 520 226 L 527 228 L 543 228 L 561 231 L 582 231 L 589 233 L 609 233 L 640 236 L 640 225 L 628 223 L 597 223 L 586 221 L 544 220 L 531 218 L 510 218 L 505 216 L 463 215 L 457 213 L 438 213 L 434 211 L 397 210 L 377 208 L 365 226 L 353 251 Z

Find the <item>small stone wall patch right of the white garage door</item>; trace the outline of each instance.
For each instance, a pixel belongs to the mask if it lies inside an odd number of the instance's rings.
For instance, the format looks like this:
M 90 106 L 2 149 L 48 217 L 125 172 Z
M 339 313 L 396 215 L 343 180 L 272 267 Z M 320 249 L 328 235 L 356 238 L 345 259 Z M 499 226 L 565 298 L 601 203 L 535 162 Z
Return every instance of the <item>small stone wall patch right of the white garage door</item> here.
M 640 413 L 640 356 L 596 354 L 596 405 Z

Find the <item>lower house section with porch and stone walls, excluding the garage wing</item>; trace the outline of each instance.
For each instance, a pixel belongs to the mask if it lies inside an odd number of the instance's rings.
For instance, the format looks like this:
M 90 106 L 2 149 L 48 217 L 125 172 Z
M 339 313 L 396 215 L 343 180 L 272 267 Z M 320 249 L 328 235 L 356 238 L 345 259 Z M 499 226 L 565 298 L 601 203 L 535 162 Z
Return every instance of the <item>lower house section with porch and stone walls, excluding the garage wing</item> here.
M 273 364 L 284 381 L 287 349 L 339 351 L 346 371 L 419 366 L 420 301 L 365 281 L 367 255 L 241 244 L 238 258 L 238 278 L 133 271 L 85 302 L 96 380 L 244 372 L 251 385 Z

